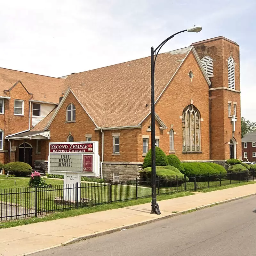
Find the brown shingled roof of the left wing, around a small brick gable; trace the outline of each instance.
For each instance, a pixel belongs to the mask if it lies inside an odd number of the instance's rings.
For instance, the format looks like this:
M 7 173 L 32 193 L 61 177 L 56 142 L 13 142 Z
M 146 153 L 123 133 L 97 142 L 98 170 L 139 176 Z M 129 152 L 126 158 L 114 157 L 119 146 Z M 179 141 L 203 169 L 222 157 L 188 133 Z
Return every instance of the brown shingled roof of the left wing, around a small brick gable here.
M 21 81 L 27 91 L 33 94 L 31 100 L 55 104 L 59 104 L 65 85 L 64 79 L 0 68 L 0 96 L 6 97 L 4 90 L 12 88 L 17 81 Z

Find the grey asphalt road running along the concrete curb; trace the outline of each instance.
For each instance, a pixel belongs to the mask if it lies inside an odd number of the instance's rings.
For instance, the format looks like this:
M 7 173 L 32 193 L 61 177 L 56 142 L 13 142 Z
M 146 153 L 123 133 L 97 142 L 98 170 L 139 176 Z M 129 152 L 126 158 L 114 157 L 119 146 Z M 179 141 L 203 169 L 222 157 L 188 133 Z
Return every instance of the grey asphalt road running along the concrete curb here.
M 256 196 L 32 255 L 255 256 Z

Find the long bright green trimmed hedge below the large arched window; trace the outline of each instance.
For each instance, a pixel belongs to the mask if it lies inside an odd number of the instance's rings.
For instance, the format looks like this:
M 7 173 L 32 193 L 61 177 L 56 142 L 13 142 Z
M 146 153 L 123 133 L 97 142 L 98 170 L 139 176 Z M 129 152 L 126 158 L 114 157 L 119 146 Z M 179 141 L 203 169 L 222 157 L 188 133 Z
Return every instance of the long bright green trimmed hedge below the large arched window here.
M 226 175 L 227 171 L 225 168 L 219 167 L 220 165 L 218 164 L 213 164 L 213 163 L 182 163 L 182 166 L 184 167 L 184 173 L 186 176 L 206 176 L 208 175 Z

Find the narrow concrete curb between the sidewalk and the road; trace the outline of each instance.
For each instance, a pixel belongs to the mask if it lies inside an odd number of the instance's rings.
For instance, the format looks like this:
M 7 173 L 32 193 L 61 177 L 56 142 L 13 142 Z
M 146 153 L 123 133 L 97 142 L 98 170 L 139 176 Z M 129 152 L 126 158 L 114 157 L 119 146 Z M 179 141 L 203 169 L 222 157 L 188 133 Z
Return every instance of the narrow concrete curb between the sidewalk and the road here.
M 61 243 L 61 244 L 56 244 L 56 245 L 53 245 L 51 247 L 47 247 L 47 248 L 40 249 L 40 250 L 37 250 L 37 251 L 23 253 L 23 254 L 20 254 L 20 255 L 17 255 L 17 256 L 29 255 L 29 254 L 32 254 L 32 253 L 42 252 L 42 251 L 53 249 L 53 248 L 60 247 L 60 246 L 66 246 L 68 244 L 73 244 L 73 243 L 76 243 L 76 242 L 79 242 L 79 241 L 82 241 L 82 240 L 91 239 L 91 238 L 94 238 L 94 237 L 97 237 L 97 236 L 104 236 L 104 235 L 111 234 L 111 233 L 114 233 L 114 232 L 117 232 L 117 231 L 122 231 L 124 229 L 139 227 L 139 226 L 149 224 L 149 223 L 152 223 L 152 222 L 155 222 L 155 221 L 158 221 L 158 220 L 164 220 L 164 219 L 172 218 L 174 216 L 179 216 L 181 214 L 194 212 L 194 211 L 205 209 L 205 208 L 208 208 L 208 207 L 212 207 L 212 206 L 218 205 L 218 204 L 225 204 L 225 203 L 228 203 L 228 202 L 236 201 L 236 200 L 243 199 L 243 198 L 249 197 L 249 196 L 254 196 L 254 195 L 256 195 L 256 193 L 252 193 L 252 194 L 245 195 L 245 196 L 238 196 L 238 197 L 235 197 L 235 198 L 215 202 L 215 203 L 212 203 L 212 204 L 205 204 L 205 205 L 202 205 L 202 206 L 194 207 L 194 208 L 191 208 L 191 209 L 188 209 L 188 210 L 185 210 L 185 211 L 181 211 L 181 212 L 175 212 L 175 213 L 165 215 L 165 216 L 162 216 L 162 217 L 159 217 L 159 218 L 156 218 L 156 219 L 152 219 L 152 220 L 136 222 L 136 223 L 132 223 L 130 225 L 124 225 L 124 226 L 119 226 L 117 228 L 112 228 L 112 229 L 105 230 L 105 231 L 95 232 L 93 234 L 86 235 L 86 236 L 71 238 L 67 242 L 64 242 L 64 243 Z

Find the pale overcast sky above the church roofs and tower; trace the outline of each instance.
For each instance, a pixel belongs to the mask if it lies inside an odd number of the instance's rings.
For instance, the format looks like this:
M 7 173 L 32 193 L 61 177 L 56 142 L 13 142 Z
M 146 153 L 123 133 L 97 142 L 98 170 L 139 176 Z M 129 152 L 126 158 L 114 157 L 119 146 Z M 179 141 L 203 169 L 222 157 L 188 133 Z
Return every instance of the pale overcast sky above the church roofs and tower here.
M 225 36 L 240 45 L 242 116 L 256 121 L 255 0 L 9 0 L 0 8 L 0 67 L 60 77 Z

